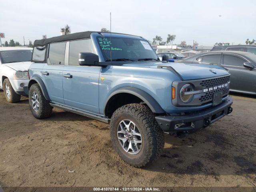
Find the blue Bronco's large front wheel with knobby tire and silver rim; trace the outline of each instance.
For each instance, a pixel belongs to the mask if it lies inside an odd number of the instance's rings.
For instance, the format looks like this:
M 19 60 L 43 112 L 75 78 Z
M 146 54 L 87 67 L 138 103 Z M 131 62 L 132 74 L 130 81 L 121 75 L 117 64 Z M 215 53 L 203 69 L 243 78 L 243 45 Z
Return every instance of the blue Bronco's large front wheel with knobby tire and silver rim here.
M 154 114 L 142 104 L 118 108 L 111 118 L 110 134 L 119 156 L 135 167 L 151 163 L 164 148 L 163 132 Z

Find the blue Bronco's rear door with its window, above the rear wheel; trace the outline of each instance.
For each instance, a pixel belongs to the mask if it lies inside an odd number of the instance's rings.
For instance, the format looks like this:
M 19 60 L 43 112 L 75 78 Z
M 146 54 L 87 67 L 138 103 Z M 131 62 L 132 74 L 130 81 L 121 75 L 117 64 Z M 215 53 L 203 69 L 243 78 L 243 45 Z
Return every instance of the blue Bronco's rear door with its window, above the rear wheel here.
M 62 76 L 65 49 L 66 42 L 50 44 L 47 64 L 44 65 L 42 70 L 44 84 L 51 101 L 60 104 L 64 104 Z

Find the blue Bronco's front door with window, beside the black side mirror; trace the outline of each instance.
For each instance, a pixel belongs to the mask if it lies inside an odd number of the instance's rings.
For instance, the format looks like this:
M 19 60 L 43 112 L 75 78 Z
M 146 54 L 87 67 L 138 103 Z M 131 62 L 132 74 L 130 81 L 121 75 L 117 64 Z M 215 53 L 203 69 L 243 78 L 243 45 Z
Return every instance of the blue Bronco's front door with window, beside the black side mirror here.
M 100 66 L 80 66 L 79 52 L 95 53 L 91 39 L 69 42 L 68 66 L 63 70 L 63 95 L 67 106 L 99 114 Z

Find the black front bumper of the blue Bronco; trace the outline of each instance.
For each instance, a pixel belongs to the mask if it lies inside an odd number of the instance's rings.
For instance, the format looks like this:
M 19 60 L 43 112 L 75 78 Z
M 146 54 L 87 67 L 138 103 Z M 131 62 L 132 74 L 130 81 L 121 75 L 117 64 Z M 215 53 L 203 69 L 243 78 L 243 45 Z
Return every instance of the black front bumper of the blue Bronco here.
M 228 96 L 221 104 L 191 114 L 156 116 L 164 132 L 196 132 L 232 112 L 233 99 Z

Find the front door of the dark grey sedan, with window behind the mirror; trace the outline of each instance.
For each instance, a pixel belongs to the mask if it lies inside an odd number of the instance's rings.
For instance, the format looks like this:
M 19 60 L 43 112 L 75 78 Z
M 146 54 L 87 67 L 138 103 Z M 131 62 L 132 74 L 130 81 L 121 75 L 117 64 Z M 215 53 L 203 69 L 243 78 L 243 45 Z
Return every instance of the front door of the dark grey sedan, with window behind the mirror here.
M 223 54 L 222 66 L 230 72 L 230 90 L 256 93 L 256 70 L 250 70 L 244 67 L 244 62 L 248 62 L 236 54 Z

